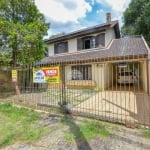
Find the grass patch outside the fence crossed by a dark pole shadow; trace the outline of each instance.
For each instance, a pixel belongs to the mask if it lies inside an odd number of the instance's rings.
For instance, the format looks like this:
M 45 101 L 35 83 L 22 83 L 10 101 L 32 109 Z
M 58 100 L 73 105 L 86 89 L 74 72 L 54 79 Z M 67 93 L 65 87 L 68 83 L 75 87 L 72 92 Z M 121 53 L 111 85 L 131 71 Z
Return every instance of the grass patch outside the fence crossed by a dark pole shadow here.
M 84 141 L 94 138 L 104 139 L 110 136 L 109 126 L 96 120 L 84 119 L 74 122 L 72 118 L 64 116 L 61 122 L 70 127 L 70 131 L 64 134 L 64 139 L 69 143 L 75 139 Z

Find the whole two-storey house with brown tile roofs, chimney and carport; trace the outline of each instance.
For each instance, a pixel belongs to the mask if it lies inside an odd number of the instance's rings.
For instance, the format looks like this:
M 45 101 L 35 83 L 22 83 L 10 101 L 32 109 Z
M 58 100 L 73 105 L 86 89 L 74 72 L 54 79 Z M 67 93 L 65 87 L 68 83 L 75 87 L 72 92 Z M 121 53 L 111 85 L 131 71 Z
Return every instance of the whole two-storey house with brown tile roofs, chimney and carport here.
M 119 64 L 136 74 L 137 85 L 148 92 L 149 48 L 142 36 L 120 38 L 118 21 L 82 29 L 46 40 L 48 57 L 41 64 L 64 65 L 68 88 L 107 89 L 117 85 Z

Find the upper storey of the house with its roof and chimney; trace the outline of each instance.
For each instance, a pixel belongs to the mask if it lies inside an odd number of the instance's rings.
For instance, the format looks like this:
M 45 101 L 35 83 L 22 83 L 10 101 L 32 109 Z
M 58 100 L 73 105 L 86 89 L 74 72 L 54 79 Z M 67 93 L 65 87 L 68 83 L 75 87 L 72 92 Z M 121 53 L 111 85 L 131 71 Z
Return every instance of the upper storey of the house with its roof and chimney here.
M 104 48 L 112 39 L 120 38 L 118 21 L 111 21 L 110 14 L 107 15 L 107 22 L 104 24 L 47 40 L 49 56 Z

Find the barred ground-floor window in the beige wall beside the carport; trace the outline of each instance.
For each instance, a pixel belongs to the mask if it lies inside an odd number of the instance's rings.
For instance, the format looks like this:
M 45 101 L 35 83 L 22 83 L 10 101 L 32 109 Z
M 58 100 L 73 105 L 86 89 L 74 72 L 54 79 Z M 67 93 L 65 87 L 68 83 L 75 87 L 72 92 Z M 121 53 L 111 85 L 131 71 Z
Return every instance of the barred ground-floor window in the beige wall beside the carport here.
M 91 65 L 72 66 L 71 72 L 72 72 L 72 80 L 92 80 Z

